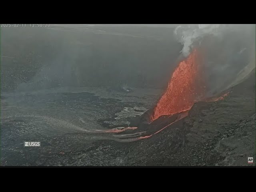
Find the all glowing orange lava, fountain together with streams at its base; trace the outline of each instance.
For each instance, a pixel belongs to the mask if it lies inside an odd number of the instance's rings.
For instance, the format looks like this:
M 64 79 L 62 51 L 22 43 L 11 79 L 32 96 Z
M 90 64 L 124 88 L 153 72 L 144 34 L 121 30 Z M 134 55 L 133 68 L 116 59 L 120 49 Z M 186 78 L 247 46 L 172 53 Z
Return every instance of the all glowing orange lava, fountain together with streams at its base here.
M 170 81 L 168 82 L 166 91 L 150 115 L 150 122 L 153 122 L 160 116 L 174 114 L 178 115 L 176 120 L 170 122 L 166 126 L 160 127 L 156 132 L 146 136 L 140 136 L 141 134 L 144 134 L 145 131 L 141 132 L 138 127 L 118 127 L 110 130 L 90 130 L 90 132 L 120 133 L 126 130 L 136 129 L 140 132 L 117 135 L 114 140 L 118 142 L 132 142 L 140 139 L 146 139 L 186 117 L 188 115 L 188 110 L 192 108 L 195 102 L 203 100 L 206 102 L 216 102 L 218 100 L 223 100 L 228 94 L 229 93 L 223 94 L 218 98 L 206 98 L 206 83 L 202 51 L 194 49 L 190 55 L 182 60 L 175 68 Z

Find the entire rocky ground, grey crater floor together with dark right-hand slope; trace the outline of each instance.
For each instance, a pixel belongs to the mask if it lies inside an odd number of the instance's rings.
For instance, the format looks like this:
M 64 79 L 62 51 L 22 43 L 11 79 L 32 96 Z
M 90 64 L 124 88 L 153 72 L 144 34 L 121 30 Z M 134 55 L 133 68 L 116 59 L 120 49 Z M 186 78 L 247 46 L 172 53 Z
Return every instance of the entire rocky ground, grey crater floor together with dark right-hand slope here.
M 131 122 L 157 101 L 161 90 L 144 90 L 145 97 L 138 94 L 142 90 L 86 91 L 18 96 L 16 102 L 2 96 L 1 166 L 255 165 L 247 162 L 248 157 L 256 158 L 255 76 L 230 89 L 224 100 L 195 103 L 182 120 L 134 142 L 84 130 Z M 170 120 L 161 117 L 159 126 Z M 25 140 L 39 140 L 42 146 L 26 148 Z

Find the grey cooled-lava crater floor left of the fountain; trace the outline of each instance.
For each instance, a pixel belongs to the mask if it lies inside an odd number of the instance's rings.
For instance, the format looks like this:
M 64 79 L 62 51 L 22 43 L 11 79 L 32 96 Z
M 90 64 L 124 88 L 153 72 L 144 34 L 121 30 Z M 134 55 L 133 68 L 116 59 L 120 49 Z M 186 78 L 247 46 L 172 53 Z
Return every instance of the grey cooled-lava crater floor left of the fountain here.
M 2 166 L 114 166 L 122 164 L 130 144 L 112 133 L 127 126 L 157 100 L 162 90 L 134 88 L 61 88 L 1 94 Z M 144 96 L 146 94 L 146 97 Z M 24 141 L 41 141 L 25 148 Z

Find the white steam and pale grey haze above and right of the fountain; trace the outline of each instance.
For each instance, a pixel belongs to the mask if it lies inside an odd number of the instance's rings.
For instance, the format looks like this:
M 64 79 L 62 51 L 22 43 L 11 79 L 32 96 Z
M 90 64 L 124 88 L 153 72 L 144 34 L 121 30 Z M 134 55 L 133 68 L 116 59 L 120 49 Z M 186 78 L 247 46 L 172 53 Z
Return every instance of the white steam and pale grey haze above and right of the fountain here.
M 212 95 L 242 82 L 254 70 L 255 30 L 255 24 L 189 24 L 176 27 L 174 36 L 183 45 L 184 57 L 194 46 L 207 49 L 204 72 Z

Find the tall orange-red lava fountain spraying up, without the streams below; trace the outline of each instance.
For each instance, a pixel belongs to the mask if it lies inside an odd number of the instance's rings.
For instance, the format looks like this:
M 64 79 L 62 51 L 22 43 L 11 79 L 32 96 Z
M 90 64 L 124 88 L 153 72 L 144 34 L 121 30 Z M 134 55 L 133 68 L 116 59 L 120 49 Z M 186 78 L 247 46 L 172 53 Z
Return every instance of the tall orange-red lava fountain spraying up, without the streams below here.
M 202 100 L 204 90 L 202 57 L 194 49 L 174 70 L 166 91 L 154 108 L 151 122 L 162 115 L 190 110 L 194 102 Z

